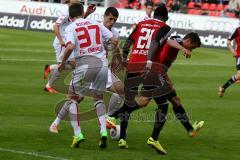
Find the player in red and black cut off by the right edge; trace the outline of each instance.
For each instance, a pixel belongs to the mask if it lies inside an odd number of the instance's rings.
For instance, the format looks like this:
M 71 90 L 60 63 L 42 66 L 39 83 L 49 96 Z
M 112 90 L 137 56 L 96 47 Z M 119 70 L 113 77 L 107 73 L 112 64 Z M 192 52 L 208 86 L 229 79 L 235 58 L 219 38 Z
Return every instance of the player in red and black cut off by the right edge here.
M 236 50 L 233 48 L 231 41 L 235 41 L 237 48 Z M 224 83 L 222 86 L 219 87 L 219 92 L 218 95 L 219 97 L 223 97 L 224 92 L 226 89 L 232 85 L 233 83 L 237 82 L 240 80 L 240 27 L 237 27 L 234 32 L 230 35 L 228 38 L 228 48 L 229 51 L 233 54 L 233 56 L 236 58 L 236 68 L 237 68 L 237 73 L 233 75 L 226 83 Z

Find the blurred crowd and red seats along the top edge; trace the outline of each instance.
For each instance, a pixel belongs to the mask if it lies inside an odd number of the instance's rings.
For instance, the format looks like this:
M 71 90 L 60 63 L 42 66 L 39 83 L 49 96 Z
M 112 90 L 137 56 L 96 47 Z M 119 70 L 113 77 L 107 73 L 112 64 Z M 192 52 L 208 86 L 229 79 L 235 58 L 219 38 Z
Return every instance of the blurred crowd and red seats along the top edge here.
M 39 2 L 65 3 L 67 0 L 32 0 Z M 84 2 L 84 0 L 82 0 Z M 146 5 L 166 3 L 169 12 L 219 17 L 239 17 L 240 0 L 88 0 L 88 4 L 97 6 L 115 6 L 117 8 L 145 10 Z

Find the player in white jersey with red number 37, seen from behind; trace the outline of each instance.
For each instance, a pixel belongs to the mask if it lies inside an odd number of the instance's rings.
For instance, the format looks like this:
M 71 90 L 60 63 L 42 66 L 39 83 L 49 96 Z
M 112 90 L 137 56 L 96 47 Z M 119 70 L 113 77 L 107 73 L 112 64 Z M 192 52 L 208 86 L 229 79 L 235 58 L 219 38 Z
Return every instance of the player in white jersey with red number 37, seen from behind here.
M 76 68 L 69 88 L 69 100 L 65 103 L 69 106 L 69 117 L 74 129 L 71 147 L 78 147 L 84 141 L 78 119 L 78 97 L 92 93 L 100 123 L 99 146 L 106 148 L 107 131 L 103 93 L 107 84 L 108 61 L 103 43 L 104 41 L 116 42 L 116 40 L 112 32 L 102 24 L 83 19 L 83 13 L 81 4 L 73 4 L 69 7 L 69 16 L 73 23 L 66 28 L 66 50 L 58 68 L 60 71 L 63 70 L 68 57 L 71 54 L 74 55 Z

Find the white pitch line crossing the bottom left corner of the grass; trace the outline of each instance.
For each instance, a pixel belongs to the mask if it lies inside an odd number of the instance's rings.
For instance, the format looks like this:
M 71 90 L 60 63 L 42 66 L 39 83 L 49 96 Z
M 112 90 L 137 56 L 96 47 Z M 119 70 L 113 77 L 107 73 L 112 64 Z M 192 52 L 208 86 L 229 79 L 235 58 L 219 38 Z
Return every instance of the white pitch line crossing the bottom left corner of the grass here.
M 35 152 L 25 152 L 25 151 L 19 151 L 19 150 L 14 150 L 14 149 L 7 149 L 7 148 L 0 148 L 0 152 L 11 152 L 11 153 L 15 153 L 15 154 L 23 154 L 23 155 L 39 157 L 39 158 L 46 158 L 46 159 L 68 160 L 68 159 L 62 158 L 62 157 L 55 157 L 55 156 L 49 156 L 49 155 L 35 153 Z

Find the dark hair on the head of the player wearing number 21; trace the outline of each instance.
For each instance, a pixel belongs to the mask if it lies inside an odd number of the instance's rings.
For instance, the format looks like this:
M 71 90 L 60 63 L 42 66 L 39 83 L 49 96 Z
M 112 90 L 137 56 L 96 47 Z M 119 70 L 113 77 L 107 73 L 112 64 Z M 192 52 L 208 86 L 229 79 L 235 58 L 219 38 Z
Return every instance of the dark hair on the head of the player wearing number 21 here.
M 161 19 L 163 21 L 168 20 L 168 10 L 167 10 L 167 7 L 164 3 L 160 3 L 158 5 L 158 7 L 154 11 L 153 17 Z

